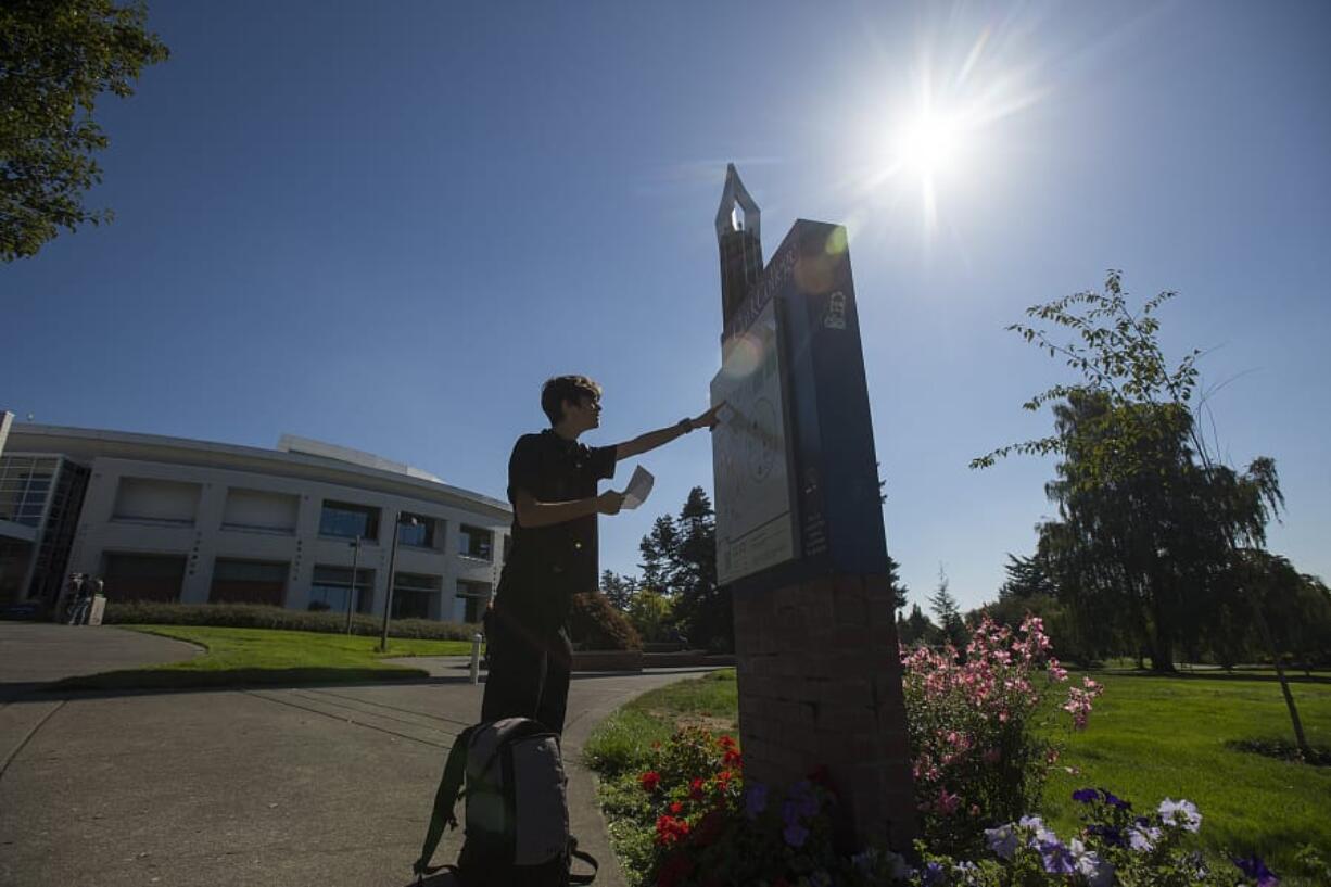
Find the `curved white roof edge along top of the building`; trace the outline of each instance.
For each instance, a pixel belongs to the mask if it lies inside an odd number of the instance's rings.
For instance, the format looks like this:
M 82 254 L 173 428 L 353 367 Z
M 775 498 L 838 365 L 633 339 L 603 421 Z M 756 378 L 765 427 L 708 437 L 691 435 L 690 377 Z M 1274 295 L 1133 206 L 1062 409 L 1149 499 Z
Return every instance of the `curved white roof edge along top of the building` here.
M 47 438 L 45 441 L 40 438 Z M 60 446 L 60 441 L 72 445 Z M 338 449 L 338 447 L 333 447 Z M 499 511 L 495 517 L 511 518 L 512 507 L 507 502 L 490 498 L 473 490 L 459 486 L 450 486 L 439 479 L 426 479 L 405 471 L 394 471 L 381 467 L 371 467 L 357 462 L 342 461 L 333 457 L 306 455 L 284 450 L 268 450 L 258 446 L 244 446 L 240 444 L 221 444 L 216 441 L 196 441 L 185 437 L 168 437 L 162 434 L 141 434 L 137 432 L 113 432 L 106 429 L 69 428 L 63 425 L 37 425 L 32 422 L 15 422 L 9 428 L 9 440 L 5 446 L 8 453 L 29 451 L 61 453 L 73 458 L 97 457 L 106 458 L 142 458 L 158 462 L 172 462 L 177 465 L 197 465 L 202 467 L 234 467 L 237 470 L 254 470 L 246 462 L 270 466 L 269 470 L 285 475 L 306 475 L 311 479 L 322 477 L 326 482 L 341 482 L 346 486 L 357 486 L 354 478 L 374 481 L 375 486 L 399 486 L 405 495 L 427 494 L 430 498 L 442 498 L 446 503 L 461 507 L 483 507 Z M 128 450 L 128 451 L 125 451 Z M 176 450 L 173 457 L 172 450 Z M 137 454 L 136 454 L 137 451 Z M 236 462 L 236 465 L 228 465 Z M 386 465 L 397 465 L 390 459 L 382 459 Z M 278 469 L 286 469 L 277 471 Z M 294 471 L 291 470 L 294 469 Z M 415 470 L 415 469 L 413 469 Z M 349 475 L 347 481 L 335 481 L 335 475 Z M 423 474 L 423 471 L 421 473 Z M 361 483 L 359 486 L 365 486 Z M 453 499 L 454 502 L 449 502 Z

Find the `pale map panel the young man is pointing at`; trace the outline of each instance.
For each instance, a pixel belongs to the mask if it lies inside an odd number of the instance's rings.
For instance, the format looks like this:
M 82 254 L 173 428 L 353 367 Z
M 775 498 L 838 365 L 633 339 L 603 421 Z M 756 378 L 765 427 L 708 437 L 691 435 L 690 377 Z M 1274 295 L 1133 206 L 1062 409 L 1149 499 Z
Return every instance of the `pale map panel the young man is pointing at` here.
M 727 342 L 712 404 L 716 478 L 716 578 L 725 585 L 795 557 L 776 306 Z

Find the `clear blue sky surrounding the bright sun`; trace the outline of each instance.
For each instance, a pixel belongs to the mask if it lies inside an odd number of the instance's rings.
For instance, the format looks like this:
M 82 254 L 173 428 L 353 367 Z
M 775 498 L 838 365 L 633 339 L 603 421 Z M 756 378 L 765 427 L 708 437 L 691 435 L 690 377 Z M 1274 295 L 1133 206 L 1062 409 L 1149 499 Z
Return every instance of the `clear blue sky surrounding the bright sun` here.
M 150 4 L 172 60 L 98 108 L 114 224 L 0 266 L 0 404 L 57 425 L 370 450 L 503 497 L 540 382 L 606 388 L 611 444 L 705 406 L 727 161 L 768 254 L 849 225 L 888 542 L 965 606 L 1051 514 L 1069 377 L 1010 333 L 1121 268 L 1215 349 L 1222 454 L 1275 458 L 1271 549 L 1331 578 L 1331 7 L 1323 3 Z M 933 213 L 896 132 L 957 115 Z M 894 172 L 893 172 L 894 170 Z M 642 462 L 602 563 L 688 489 Z M 631 469 L 631 466 L 627 466 Z M 619 481 L 630 470 L 622 467 Z

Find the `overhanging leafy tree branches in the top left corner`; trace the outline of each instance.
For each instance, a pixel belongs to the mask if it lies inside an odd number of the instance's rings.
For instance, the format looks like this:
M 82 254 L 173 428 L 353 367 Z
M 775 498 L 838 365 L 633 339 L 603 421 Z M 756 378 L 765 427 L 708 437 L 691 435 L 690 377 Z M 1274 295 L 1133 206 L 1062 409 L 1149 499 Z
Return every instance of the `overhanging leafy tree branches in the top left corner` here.
M 93 120 L 102 93 L 170 55 L 145 31 L 142 3 L 7 0 L 0 4 L 0 260 L 35 256 L 57 229 L 110 221 L 84 206 L 109 144 Z

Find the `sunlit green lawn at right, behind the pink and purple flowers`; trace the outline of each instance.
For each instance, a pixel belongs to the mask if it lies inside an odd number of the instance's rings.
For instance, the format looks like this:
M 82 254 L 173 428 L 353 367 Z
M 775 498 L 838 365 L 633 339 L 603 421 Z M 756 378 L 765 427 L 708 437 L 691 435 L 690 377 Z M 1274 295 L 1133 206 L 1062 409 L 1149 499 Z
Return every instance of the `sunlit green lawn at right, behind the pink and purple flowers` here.
M 1103 674 L 1086 733 L 1067 740 L 1045 788 L 1045 814 L 1070 827 L 1070 795 L 1103 786 L 1155 807 L 1187 798 L 1202 811 L 1203 843 L 1260 852 L 1276 871 L 1288 868 L 1299 846 L 1331 851 L 1331 767 L 1312 767 L 1238 751 L 1227 743 L 1290 740 L 1290 717 L 1274 679 L 1157 678 Z M 1331 746 L 1331 683 L 1292 685 L 1308 742 Z

